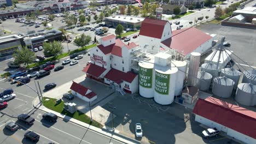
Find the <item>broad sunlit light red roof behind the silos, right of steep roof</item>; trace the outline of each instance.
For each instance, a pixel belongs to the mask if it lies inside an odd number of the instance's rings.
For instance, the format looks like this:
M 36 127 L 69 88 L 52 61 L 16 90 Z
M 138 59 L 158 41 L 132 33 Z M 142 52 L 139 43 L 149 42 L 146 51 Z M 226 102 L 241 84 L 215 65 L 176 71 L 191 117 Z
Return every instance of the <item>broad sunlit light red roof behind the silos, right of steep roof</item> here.
M 186 56 L 211 38 L 211 35 L 191 27 L 172 31 L 172 37 L 161 43 Z

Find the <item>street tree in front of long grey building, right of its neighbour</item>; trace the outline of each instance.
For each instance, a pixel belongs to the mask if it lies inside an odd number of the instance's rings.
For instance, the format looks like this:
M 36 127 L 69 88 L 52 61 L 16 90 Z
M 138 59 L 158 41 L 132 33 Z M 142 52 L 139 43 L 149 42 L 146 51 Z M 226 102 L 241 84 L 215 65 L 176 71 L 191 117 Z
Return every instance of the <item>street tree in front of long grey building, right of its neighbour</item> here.
M 44 47 L 44 56 L 54 56 L 60 55 L 63 50 L 63 46 L 59 41 L 53 41 L 50 43 L 43 43 Z

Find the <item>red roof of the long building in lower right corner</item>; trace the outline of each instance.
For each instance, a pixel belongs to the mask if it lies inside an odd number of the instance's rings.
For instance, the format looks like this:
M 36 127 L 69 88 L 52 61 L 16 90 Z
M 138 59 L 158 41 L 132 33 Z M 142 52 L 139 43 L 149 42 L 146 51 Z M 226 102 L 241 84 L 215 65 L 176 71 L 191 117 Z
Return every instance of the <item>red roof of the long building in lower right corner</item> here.
M 193 113 L 256 139 L 256 112 L 208 97 L 197 100 Z

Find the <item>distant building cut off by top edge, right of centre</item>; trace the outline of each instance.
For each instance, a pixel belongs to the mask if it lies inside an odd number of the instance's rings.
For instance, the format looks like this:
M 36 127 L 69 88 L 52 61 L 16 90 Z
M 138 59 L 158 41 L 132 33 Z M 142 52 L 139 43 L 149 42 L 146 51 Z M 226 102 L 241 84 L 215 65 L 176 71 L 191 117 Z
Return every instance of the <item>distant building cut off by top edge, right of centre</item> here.
M 189 7 L 189 5 L 195 5 L 203 8 L 205 5 L 204 0 L 170 0 L 171 4 L 174 5 L 185 5 L 185 7 Z

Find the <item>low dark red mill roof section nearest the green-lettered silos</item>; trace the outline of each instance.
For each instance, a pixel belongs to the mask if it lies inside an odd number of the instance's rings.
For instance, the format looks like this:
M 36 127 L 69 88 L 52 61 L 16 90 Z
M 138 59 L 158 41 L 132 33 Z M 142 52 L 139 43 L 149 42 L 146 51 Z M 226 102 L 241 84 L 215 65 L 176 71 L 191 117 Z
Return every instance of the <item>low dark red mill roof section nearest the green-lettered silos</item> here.
M 123 71 L 119 71 L 116 69 L 110 69 L 108 73 L 104 76 L 104 78 L 114 81 L 116 83 L 121 83 L 122 81 L 126 81 L 131 83 L 137 75 L 128 71 L 124 73 Z

